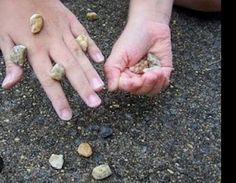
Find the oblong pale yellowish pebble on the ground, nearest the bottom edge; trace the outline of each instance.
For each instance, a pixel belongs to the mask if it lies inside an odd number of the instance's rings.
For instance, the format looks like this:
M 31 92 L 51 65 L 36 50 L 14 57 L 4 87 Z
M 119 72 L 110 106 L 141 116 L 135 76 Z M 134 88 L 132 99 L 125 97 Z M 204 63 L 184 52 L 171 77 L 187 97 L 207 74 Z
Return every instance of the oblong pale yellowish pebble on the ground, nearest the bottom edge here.
M 95 167 L 92 171 L 92 176 L 96 180 L 102 180 L 109 177 L 112 174 L 109 165 L 99 165 Z

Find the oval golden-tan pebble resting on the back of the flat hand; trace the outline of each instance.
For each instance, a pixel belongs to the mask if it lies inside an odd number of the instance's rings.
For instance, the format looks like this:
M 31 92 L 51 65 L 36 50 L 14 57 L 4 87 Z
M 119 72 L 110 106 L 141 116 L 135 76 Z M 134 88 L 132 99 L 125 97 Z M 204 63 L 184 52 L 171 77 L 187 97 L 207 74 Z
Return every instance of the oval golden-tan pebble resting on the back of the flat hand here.
M 34 14 L 30 17 L 31 32 L 36 34 L 43 28 L 43 17 L 40 14 Z

